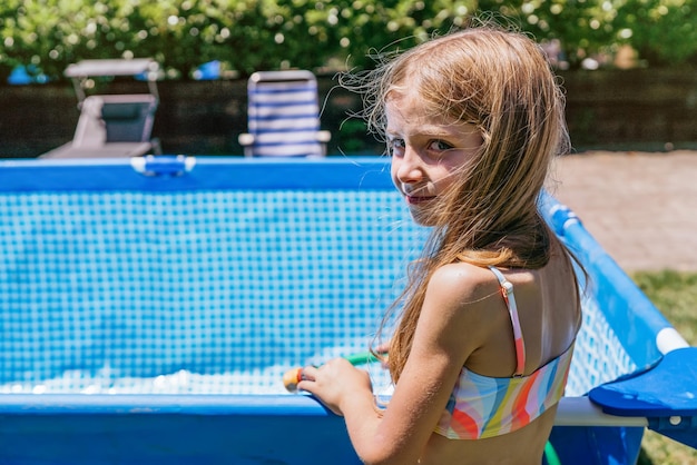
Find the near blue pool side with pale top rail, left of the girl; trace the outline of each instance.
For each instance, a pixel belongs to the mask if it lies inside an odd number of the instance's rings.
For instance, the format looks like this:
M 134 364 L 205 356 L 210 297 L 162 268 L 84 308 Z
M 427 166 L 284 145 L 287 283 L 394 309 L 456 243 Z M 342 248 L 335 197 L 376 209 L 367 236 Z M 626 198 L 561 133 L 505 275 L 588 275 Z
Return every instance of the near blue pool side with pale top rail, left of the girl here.
M 308 396 L 17 395 L 3 464 L 359 465 L 343 419 Z

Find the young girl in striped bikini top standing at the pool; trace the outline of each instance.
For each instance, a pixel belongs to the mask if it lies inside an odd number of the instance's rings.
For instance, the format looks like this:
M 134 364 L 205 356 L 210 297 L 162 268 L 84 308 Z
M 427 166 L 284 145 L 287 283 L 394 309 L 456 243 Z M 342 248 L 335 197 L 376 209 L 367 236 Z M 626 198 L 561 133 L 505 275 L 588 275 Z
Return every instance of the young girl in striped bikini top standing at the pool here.
M 571 257 L 537 208 L 568 145 L 556 78 L 532 40 L 482 27 L 370 82 L 394 185 L 433 234 L 400 299 L 386 408 L 344 359 L 297 387 L 345 417 L 369 464 L 539 465 L 581 316 Z

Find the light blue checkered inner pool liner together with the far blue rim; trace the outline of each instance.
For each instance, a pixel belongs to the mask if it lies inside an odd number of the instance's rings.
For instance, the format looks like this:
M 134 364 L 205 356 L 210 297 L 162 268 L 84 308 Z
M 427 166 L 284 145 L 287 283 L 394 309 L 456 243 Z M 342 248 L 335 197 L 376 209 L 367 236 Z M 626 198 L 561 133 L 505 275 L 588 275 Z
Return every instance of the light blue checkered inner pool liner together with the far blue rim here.
M 99 184 L 19 165 L 0 186 L 0 394 L 283 393 L 287 369 L 369 347 L 428 234 L 366 180 L 376 165 L 310 164 L 315 187 L 281 165 L 274 188 L 216 164 L 195 181 L 90 167 Z M 636 369 L 592 296 L 583 310 L 572 395 Z

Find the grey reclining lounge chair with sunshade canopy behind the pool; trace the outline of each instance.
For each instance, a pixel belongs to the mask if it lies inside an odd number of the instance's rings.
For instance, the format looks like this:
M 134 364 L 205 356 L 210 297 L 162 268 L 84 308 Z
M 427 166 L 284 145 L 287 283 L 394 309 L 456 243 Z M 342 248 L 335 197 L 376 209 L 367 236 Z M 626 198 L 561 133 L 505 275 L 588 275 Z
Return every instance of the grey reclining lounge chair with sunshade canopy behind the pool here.
M 119 158 L 159 154 L 159 141 L 151 139 L 158 93 L 157 63 L 150 59 L 85 60 L 71 65 L 80 117 L 72 140 L 41 158 Z M 145 76 L 149 93 L 85 95 L 89 76 Z

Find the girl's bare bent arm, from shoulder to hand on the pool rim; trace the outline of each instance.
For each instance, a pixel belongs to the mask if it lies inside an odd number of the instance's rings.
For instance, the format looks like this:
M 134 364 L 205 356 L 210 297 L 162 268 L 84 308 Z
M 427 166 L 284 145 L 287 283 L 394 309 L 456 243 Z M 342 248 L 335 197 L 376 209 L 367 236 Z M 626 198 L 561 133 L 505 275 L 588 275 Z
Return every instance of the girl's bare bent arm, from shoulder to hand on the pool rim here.
M 412 464 L 421 457 L 445 409 L 469 355 L 490 333 L 487 329 L 489 287 L 470 265 L 448 265 L 432 277 L 419 318 L 412 350 L 394 394 L 379 412 L 367 373 L 344 359 L 306 368 L 310 380 L 298 388 L 343 415 L 352 444 L 366 464 Z M 481 268 L 478 268 L 478 270 Z M 490 313 L 489 313 L 490 314 Z

